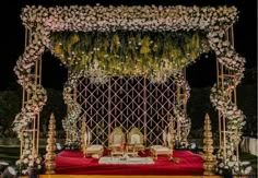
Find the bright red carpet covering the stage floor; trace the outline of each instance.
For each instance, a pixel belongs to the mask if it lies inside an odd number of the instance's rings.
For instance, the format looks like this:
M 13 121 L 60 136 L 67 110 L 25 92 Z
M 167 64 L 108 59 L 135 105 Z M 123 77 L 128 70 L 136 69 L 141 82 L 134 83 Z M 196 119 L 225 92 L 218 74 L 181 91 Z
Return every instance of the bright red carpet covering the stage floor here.
M 149 152 L 140 156 L 149 156 Z M 63 151 L 56 157 L 56 174 L 60 175 L 184 175 L 203 174 L 203 159 L 189 151 L 174 151 L 179 163 L 159 156 L 154 165 L 99 165 L 96 158 L 84 158 L 79 151 Z

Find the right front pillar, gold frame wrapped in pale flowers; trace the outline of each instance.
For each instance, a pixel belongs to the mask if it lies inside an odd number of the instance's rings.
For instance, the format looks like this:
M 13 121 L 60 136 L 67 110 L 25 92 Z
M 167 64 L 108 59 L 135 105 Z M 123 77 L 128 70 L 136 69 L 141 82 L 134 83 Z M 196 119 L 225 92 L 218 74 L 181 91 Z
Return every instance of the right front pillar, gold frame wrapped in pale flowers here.
M 211 88 L 210 96 L 219 111 L 220 150 L 216 154 L 216 170 L 219 174 L 246 174 L 248 169 L 238 158 L 238 144 L 246 121 L 236 105 L 236 86 L 244 76 L 245 58 L 234 49 L 233 25 L 226 29 L 214 27 L 208 38 L 216 55 L 216 84 Z

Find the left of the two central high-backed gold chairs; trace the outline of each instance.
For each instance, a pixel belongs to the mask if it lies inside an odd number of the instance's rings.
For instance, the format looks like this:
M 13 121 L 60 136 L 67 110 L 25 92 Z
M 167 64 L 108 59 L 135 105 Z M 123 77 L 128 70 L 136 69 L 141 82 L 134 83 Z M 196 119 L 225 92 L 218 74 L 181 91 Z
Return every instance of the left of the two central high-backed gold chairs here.
M 113 132 L 108 135 L 108 150 L 110 151 L 110 155 L 124 155 L 124 144 L 125 144 L 125 133 L 120 127 L 117 127 L 113 130 Z

